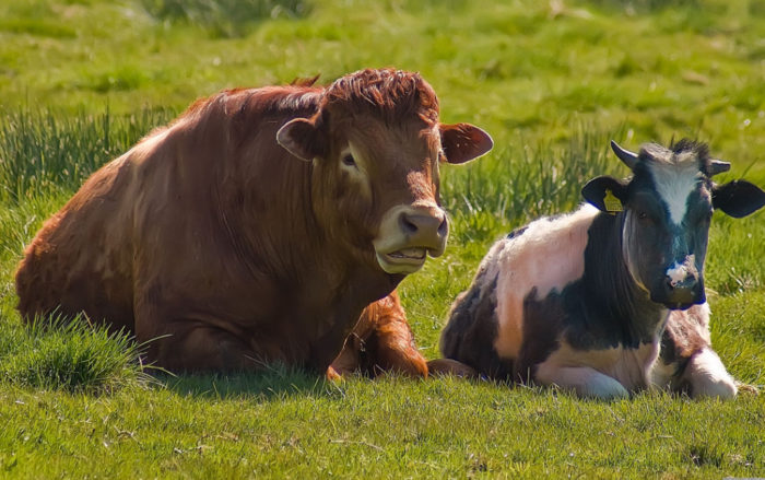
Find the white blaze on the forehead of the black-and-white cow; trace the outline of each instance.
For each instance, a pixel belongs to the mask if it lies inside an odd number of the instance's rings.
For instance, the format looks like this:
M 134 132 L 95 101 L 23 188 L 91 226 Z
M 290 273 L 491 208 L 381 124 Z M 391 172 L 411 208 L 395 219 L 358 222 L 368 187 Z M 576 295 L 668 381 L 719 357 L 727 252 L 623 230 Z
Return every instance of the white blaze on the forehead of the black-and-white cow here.
M 702 178 L 696 156 L 685 152 L 678 155 L 676 162 L 650 162 L 648 165 L 656 190 L 667 203 L 670 219 L 680 225 L 687 210 L 688 195 Z

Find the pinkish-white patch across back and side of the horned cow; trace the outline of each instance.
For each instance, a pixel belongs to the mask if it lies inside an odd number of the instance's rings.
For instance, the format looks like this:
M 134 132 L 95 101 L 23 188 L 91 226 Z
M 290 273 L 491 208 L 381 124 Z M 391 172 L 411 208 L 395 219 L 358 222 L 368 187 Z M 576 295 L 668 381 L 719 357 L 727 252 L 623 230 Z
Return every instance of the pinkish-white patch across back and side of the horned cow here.
M 531 222 L 515 238 L 497 242 L 482 262 L 487 279 L 498 272 L 496 316 L 498 323 L 494 348 L 499 356 L 517 358 L 523 339 L 523 298 L 537 288 L 543 298 L 558 292 L 585 272 L 587 230 L 599 213 L 585 204 L 579 210 L 553 220 Z

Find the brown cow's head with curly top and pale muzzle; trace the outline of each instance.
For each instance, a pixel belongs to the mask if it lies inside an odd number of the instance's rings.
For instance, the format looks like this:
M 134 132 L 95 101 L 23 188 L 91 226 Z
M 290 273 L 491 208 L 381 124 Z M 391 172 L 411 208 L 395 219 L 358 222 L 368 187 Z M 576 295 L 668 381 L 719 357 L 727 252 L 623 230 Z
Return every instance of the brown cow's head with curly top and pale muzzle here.
M 419 270 L 427 254 L 444 253 L 438 164 L 468 162 L 493 145 L 478 127 L 439 124 L 431 85 L 392 69 L 337 80 L 316 115 L 287 122 L 276 138 L 314 163 L 317 216 L 382 270 L 400 274 Z

